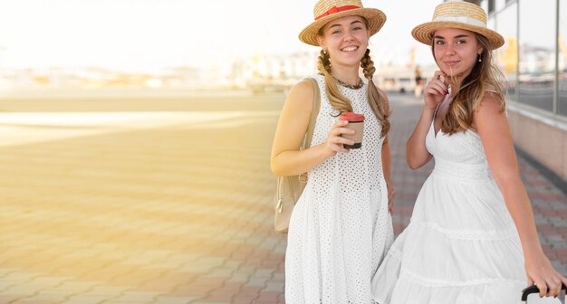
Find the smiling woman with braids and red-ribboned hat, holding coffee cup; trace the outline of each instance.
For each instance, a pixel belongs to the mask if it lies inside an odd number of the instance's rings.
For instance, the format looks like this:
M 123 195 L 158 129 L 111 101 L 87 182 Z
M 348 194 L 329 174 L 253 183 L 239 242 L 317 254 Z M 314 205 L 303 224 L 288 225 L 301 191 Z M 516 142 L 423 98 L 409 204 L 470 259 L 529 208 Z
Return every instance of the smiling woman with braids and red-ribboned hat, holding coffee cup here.
M 372 303 L 370 280 L 393 241 L 389 201 L 389 106 L 372 82 L 368 49 L 386 16 L 360 0 L 320 0 L 314 21 L 299 39 L 321 48 L 321 94 L 312 145 L 300 145 L 312 111 L 309 80 L 293 87 L 274 137 L 272 170 L 278 176 L 308 172 L 308 182 L 293 208 L 285 256 L 287 303 Z M 360 68 L 367 81 L 360 78 Z M 354 130 L 339 115 L 365 117 L 360 148 Z

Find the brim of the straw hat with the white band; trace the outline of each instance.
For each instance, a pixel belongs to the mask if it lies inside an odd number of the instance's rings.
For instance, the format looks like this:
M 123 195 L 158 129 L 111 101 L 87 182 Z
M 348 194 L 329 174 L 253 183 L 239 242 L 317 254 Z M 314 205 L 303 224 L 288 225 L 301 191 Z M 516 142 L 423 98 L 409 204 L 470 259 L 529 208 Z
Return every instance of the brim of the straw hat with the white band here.
M 479 33 L 488 39 L 488 44 L 490 45 L 491 50 L 495 50 L 504 45 L 504 37 L 491 29 L 453 21 L 432 21 L 425 24 L 419 24 L 413 29 L 413 31 L 411 31 L 411 35 L 420 43 L 432 45 L 433 33 L 437 30 L 447 28 L 458 28 Z

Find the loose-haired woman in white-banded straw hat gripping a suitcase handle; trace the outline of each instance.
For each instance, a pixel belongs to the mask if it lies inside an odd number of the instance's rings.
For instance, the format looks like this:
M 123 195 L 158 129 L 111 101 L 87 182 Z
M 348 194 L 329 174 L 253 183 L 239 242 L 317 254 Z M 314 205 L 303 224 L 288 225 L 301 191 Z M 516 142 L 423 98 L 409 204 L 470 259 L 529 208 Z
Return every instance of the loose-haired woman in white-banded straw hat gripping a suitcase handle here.
M 556 296 L 567 282 L 544 256 L 518 173 L 504 92 L 491 63 L 503 37 L 478 5 L 438 5 L 412 32 L 439 67 L 408 139 L 407 160 L 435 168 L 408 227 L 373 281 L 380 304 L 517 303 L 535 282 Z M 544 299 L 551 302 L 556 299 Z

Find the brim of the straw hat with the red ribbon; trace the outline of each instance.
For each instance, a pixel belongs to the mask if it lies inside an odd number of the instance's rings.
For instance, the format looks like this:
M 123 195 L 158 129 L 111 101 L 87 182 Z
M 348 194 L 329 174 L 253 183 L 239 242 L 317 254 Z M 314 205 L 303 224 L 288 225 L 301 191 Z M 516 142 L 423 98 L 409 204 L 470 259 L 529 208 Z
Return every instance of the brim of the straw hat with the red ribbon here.
M 299 40 L 303 43 L 311 44 L 318 46 L 319 43 L 317 42 L 317 35 L 319 34 L 319 30 L 332 22 L 333 20 L 339 19 L 341 17 L 351 16 L 351 15 L 359 15 L 366 19 L 370 29 L 370 36 L 378 33 L 380 28 L 386 23 L 386 14 L 382 13 L 379 9 L 376 8 L 356 8 L 348 11 L 343 11 L 340 13 L 328 15 L 322 17 L 321 19 L 309 24 L 307 27 L 303 29 L 301 33 L 299 33 Z

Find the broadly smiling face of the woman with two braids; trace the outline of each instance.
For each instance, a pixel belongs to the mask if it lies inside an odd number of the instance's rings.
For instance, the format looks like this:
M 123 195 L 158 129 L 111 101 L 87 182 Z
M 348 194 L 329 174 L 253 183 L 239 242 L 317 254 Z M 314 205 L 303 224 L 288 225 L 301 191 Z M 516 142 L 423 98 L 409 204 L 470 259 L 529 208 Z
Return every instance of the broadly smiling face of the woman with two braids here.
M 360 16 L 346 16 L 325 24 L 317 37 L 323 50 L 329 52 L 333 65 L 360 65 L 368 47 L 370 30 Z

